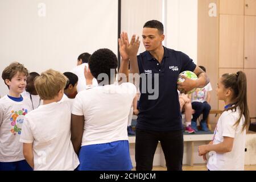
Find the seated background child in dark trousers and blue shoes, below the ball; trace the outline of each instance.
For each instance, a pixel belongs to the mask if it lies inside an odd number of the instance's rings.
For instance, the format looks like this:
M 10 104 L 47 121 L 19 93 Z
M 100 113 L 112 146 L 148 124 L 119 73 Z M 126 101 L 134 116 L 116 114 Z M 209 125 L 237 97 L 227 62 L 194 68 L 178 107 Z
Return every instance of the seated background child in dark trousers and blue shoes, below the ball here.
M 206 72 L 206 69 L 203 66 L 199 66 Z M 203 118 L 200 121 L 201 130 L 209 131 L 207 126 L 207 118 L 210 113 L 210 91 L 212 90 L 212 86 L 207 84 L 204 88 L 197 88 L 195 92 L 193 92 L 189 97 L 191 97 L 192 109 L 195 110 L 193 113 L 193 118 L 191 122 L 191 127 L 193 130 L 198 131 L 197 129 L 197 119 L 203 114 Z

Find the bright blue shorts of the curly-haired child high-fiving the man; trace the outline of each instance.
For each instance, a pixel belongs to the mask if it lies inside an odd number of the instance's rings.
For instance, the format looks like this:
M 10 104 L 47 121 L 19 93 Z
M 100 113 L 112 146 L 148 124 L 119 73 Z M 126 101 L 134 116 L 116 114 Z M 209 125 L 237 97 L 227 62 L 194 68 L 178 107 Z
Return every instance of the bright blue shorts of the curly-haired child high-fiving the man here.
M 133 168 L 127 140 L 82 146 L 79 161 L 79 171 L 130 171 Z

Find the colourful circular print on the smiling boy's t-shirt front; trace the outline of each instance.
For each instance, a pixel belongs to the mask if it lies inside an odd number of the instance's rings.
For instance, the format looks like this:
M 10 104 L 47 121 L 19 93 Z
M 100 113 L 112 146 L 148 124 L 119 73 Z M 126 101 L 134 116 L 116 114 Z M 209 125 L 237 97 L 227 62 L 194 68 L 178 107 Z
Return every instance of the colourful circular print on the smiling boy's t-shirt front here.
M 11 121 L 11 126 L 13 127 L 11 129 L 11 133 L 13 133 L 14 135 L 16 135 L 16 133 L 18 133 L 20 135 L 24 117 L 27 114 L 27 109 L 22 109 L 19 111 L 12 110 L 11 113 L 12 113 L 12 115 L 11 115 L 10 121 Z

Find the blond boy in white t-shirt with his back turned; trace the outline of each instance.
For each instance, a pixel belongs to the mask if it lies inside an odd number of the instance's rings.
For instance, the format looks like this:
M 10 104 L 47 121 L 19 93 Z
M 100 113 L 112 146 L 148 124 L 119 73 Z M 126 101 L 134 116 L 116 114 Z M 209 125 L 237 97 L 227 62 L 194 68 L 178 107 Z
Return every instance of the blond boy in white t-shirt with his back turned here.
M 59 102 L 67 77 L 49 69 L 35 80 L 43 105 L 24 119 L 23 154 L 34 170 L 74 170 L 79 160 L 71 143 L 71 102 Z

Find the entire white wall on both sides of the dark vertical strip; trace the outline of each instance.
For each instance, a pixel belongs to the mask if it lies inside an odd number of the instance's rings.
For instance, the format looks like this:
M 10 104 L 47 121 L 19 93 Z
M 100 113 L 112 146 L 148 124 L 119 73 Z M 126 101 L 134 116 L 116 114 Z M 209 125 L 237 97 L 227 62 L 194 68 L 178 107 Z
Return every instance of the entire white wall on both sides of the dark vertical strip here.
M 39 16 L 40 3 L 46 5 L 46 16 Z M 117 54 L 117 8 L 118 0 L 0 0 L 0 72 L 15 60 L 31 72 L 64 72 L 82 52 L 109 48 Z M 122 0 L 121 31 L 130 37 L 141 37 L 143 24 L 151 19 L 163 22 L 165 46 L 197 63 L 197 0 Z M 0 81 L 0 95 L 6 93 Z

